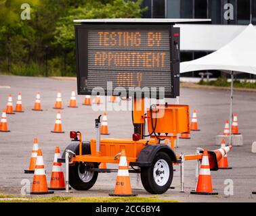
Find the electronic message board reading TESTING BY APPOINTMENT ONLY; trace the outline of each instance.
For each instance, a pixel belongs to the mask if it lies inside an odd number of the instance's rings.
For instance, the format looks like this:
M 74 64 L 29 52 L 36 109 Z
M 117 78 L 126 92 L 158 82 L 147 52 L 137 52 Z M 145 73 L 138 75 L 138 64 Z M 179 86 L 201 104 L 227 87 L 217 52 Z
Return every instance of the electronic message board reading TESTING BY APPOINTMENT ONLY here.
M 179 28 L 170 24 L 81 24 L 75 26 L 75 38 L 79 94 L 91 94 L 95 88 L 107 94 L 111 86 L 127 92 L 148 87 L 157 95 L 165 93 L 164 97 L 179 95 Z M 116 95 L 112 90 L 110 94 Z

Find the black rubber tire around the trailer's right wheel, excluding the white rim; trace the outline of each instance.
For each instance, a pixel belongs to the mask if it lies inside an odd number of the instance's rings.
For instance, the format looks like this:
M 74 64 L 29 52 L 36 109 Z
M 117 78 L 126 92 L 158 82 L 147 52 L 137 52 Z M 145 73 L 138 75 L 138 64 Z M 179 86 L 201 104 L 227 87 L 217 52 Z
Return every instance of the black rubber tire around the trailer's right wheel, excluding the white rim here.
M 169 180 L 163 186 L 158 186 L 158 184 L 156 184 L 153 175 L 154 165 L 160 159 L 165 160 L 169 165 Z M 169 155 L 163 151 L 156 153 L 156 156 L 154 157 L 150 167 L 141 167 L 141 180 L 145 190 L 150 194 L 163 194 L 166 192 L 170 188 L 171 182 L 173 181 L 173 163 Z

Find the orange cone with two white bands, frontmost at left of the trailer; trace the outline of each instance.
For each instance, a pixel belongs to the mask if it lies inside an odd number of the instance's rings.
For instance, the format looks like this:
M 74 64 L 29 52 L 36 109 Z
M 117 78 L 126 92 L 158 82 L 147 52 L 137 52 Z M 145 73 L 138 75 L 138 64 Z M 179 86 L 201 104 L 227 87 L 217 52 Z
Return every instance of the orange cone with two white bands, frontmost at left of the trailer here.
M 35 173 L 30 194 L 53 194 L 54 191 L 49 191 L 45 175 L 45 165 L 43 164 L 43 153 L 41 149 L 37 153 L 37 162 L 35 165 Z

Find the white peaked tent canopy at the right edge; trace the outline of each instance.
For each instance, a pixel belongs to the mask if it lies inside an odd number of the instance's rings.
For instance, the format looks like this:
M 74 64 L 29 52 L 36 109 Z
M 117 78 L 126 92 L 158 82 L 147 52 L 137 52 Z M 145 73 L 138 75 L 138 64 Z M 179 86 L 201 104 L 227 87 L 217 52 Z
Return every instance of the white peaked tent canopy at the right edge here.
M 219 32 L 221 34 L 221 32 Z M 180 65 L 180 73 L 224 70 L 256 74 L 256 30 L 249 24 L 236 38 L 217 51 Z

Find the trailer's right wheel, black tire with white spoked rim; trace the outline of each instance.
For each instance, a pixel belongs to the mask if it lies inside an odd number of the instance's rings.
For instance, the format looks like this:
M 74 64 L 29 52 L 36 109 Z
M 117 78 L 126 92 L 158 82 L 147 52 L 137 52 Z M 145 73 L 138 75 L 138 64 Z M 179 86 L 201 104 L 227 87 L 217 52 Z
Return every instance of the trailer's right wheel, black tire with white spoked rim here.
M 160 151 L 156 153 L 150 167 L 141 167 L 142 184 L 150 194 L 163 194 L 173 181 L 173 163 L 170 157 Z

